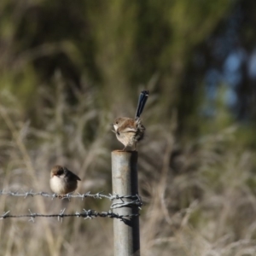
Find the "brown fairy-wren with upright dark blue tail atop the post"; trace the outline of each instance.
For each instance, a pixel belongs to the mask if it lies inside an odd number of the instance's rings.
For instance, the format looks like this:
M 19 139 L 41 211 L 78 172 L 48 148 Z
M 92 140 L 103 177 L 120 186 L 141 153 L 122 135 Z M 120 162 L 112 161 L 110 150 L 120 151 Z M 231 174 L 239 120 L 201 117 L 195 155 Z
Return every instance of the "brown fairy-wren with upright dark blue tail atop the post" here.
M 148 90 L 143 90 L 141 92 L 137 103 L 135 119 L 119 117 L 113 122 L 113 132 L 119 142 L 125 145 L 125 148 L 131 147 L 132 150 L 136 150 L 137 142 L 144 137 L 146 128 L 143 126 L 140 116 L 143 113 L 143 108 L 148 100 L 148 94 Z

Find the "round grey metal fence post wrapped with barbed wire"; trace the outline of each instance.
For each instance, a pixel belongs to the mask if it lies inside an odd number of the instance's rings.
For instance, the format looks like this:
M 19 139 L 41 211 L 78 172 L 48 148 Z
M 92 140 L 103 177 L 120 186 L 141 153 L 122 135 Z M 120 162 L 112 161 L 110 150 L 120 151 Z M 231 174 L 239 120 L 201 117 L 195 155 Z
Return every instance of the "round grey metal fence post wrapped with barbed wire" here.
M 113 193 L 137 195 L 137 151 L 115 150 L 111 156 Z M 124 201 L 129 200 L 124 199 Z M 137 207 L 121 207 L 113 210 L 119 215 L 138 214 L 138 211 Z M 127 218 L 127 221 L 114 218 L 113 238 L 114 256 L 139 256 L 139 217 Z

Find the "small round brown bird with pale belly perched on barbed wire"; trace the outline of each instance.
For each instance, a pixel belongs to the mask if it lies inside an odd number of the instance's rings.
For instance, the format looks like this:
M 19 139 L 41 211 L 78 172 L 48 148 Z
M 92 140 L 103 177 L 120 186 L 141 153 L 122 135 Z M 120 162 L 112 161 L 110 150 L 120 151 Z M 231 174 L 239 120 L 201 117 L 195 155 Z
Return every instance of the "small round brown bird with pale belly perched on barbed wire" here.
M 57 195 L 66 195 L 78 188 L 81 180 L 64 166 L 54 166 L 50 172 L 49 186 Z

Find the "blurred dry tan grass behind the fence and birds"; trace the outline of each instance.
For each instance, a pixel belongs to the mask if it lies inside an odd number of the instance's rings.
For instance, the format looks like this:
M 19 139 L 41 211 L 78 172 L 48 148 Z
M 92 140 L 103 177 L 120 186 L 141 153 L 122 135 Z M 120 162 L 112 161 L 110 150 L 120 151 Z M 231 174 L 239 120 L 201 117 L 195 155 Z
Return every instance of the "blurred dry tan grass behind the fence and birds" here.
M 108 124 L 113 116 L 96 108 L 96 92 L 88 88 L 74 90 L 75 107 L 67 104 L 58 84 L 54 96 L 41 90 L 49 104 L 38 113 L 39 128 L 22 121 L 17 99 L 2 93 L 0 187 L 49 192 L 49 169 L 58 163 L 82 178 L 80 192 L 111 192 L 113 134 Z M 150 108 L 143 119 L 150 124 L 157 111 Z M 175 113 L 166 124 L 148 125 L 148 137 L 139 147 L 142 255 L 255 255 L 254 153 L 236 148 L 233 127 L 181 146 L 176 126 Z M 0 212 L 104 211 L 109 204 L 1 196 Z M 112 222 L 5 219 L 0 222 L 0 255 L 113 255 Z

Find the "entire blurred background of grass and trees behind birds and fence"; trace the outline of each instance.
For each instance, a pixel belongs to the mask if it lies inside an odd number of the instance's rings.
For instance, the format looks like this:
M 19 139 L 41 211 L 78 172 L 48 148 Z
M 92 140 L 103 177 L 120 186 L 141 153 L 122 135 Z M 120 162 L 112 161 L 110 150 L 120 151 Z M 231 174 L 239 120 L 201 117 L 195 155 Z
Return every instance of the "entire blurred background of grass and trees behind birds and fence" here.
M 0 189 L 111 192 L 111 132 L 143 113 L 143 255 L 256 254 L 256 2 L 0 3 Z M 0 197 L 0 213 L 106 211 L 107 201 Z M 2 213 L 1 213 L 2 214 Z M 113 255 L 113 220 L 0 222 L 0 255 Z

